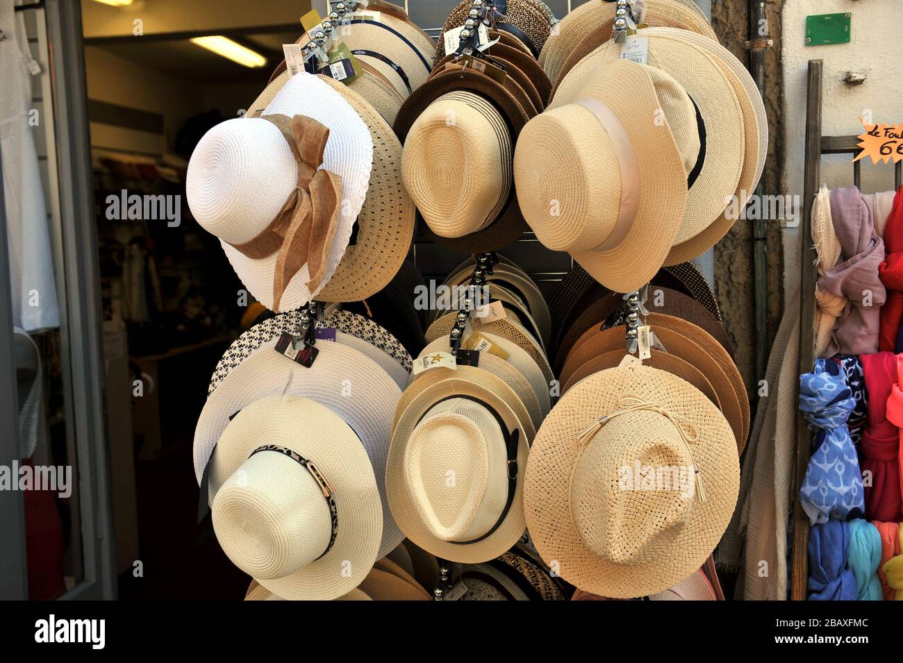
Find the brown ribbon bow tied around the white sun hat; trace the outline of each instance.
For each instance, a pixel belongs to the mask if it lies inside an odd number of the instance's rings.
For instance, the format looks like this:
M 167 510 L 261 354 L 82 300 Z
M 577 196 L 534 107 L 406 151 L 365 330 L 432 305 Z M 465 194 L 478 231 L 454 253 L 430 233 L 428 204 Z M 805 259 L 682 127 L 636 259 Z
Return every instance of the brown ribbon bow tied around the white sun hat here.
M 261 115 L 283 134 L 298 163 L 298 183 L 276 214 L 256 237 L 232 244 L 252 260 L 279 252 L 273 276 L 273 310 L 279 310 L 286 286 L 307 264 L 308 289 L 316 292 L 326 270 L 341 211 L 341 178 L 320 168 L 330 137 L 329 127 L 307 115 Z

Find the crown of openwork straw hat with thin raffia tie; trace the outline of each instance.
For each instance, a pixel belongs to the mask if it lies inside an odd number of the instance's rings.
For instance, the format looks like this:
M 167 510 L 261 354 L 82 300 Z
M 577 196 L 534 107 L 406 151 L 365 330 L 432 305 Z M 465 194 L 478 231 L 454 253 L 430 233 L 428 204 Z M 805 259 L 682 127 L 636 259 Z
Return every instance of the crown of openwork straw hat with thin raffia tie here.
M 608 420 L 573 465 L 570 502 L 578 534 L 599 557 L 641 563 L 693 509 L 693 467 L 664 414 L 637 410 Z

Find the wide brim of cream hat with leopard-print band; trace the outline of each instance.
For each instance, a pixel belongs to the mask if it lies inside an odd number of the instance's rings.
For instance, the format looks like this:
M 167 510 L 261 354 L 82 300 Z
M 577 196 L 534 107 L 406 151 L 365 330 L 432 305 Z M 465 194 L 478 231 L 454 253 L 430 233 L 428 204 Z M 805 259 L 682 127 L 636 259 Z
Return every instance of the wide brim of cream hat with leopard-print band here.
M 318 435 L 299 436 L 299 424 Z M 354 589 L 377 560 L 383 532 L 383 507 L 370 459 L 360 440 L 335 413 L 303 398 L 275 395 L 248 404 L 217 440 L 210 459 L 210 502 L 219 485 L 243 465 L 265 440 L 310 459 L 329 477 L 340 513 L 332 548 L 289 576 L 256 578 L 278 596 L 298 600 L 337 598 Z M 298 468 L 299 472 L 303 469 Z M 343 570 L 350 563 L 350 573 Z

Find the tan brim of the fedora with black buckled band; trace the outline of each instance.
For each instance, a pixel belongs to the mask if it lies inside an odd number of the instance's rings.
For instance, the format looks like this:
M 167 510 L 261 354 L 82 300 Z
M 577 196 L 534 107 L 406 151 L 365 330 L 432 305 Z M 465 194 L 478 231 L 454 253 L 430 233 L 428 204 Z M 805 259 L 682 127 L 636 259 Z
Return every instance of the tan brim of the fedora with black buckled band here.
M 473 366 L 459 366 L 456 371 L 434 368 L 419 375 L 405 390 L 405 396 L 398 404 L 392 445 L 386 460 L 386 493 L 393 517 L 408 539 L 436 557 L 473 564 L 498 557 L 524 534 L 523 472 L 518 469 L 514 502 L 505 520 L 489 537 L 469 544 L 449 543 L 429 533 L 410 501 L 403 475 L 405 445 L 417 421 L 437 401 L 457 395 L 470 396 L 489 404 L 498 412 L 509 431 L 521 431 L 517 443 L 517 467 L 526 467 L 535 428 L 517 394 L 492 373 Z

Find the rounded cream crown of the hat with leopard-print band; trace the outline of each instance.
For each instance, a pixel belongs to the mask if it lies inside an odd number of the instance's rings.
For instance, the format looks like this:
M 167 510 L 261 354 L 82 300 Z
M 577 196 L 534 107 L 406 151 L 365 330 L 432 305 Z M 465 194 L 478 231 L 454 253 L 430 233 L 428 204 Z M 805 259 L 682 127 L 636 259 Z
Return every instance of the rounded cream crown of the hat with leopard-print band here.
M 312 474 L 290 456 L 261 451 L 220 486 L 213 502 L 219 545 L 249 576 L 293 574 L 330 543 L 330 508 Z

